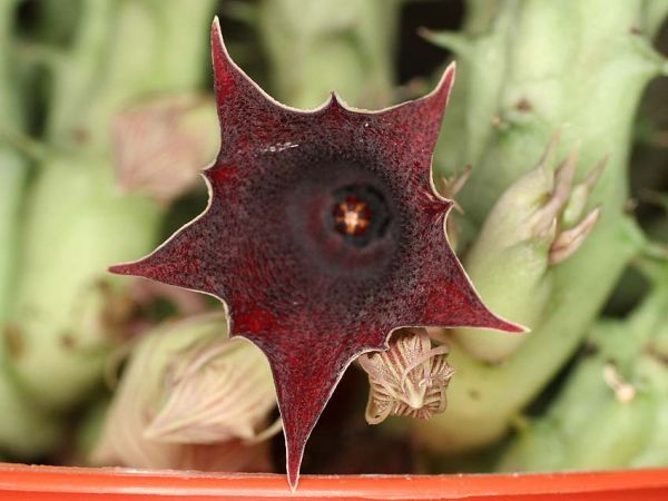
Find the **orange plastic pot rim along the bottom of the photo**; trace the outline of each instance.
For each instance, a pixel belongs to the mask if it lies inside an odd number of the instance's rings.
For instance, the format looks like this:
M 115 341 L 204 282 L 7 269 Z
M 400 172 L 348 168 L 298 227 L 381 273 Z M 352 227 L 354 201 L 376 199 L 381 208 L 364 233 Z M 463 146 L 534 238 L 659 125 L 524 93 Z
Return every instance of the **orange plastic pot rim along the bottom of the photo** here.
M 552 474 L 304 475 L 292 493 L 277 474 L 213 474 L 0 463 L 0 500 L 668 500 L 668 469 Z

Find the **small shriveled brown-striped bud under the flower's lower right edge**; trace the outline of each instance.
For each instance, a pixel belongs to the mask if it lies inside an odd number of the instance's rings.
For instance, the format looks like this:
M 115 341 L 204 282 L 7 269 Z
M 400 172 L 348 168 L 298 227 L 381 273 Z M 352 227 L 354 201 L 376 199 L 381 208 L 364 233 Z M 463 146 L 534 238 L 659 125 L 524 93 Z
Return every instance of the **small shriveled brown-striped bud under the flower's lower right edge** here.
M 424 328 L 393 334 L 386 352 L 361 355 L 357 362 L 371 385 L 366 421 L 379 424 L 390 415 L 430 419 L 445 411 L 445 390 L 454 370 L 448 346 L 432 346 Z

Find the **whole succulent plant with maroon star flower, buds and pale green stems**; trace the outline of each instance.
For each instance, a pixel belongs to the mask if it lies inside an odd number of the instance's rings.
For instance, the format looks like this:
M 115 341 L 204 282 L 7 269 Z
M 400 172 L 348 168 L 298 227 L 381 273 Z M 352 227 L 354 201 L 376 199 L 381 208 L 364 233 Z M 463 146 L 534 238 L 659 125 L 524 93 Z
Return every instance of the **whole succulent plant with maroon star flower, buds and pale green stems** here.
M 404 3 L 0 1 L 2 460 L 281 471 L 285 424 L 294 487 L 354 360 L 311 471 L 666 464 L 668 2 Z M 216 10 L 311 111 L 217 26 L 207 97 Z

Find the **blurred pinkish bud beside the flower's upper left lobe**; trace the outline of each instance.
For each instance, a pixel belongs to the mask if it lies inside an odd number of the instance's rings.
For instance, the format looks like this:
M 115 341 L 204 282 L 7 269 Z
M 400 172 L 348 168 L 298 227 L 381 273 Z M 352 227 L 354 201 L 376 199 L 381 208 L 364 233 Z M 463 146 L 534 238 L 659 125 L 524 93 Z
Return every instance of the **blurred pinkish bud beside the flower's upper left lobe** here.
M 191 188 L 216 156 L 213 98 L 167 96 L 116 117 L 115 159 L 119 184 L 169 202 Z

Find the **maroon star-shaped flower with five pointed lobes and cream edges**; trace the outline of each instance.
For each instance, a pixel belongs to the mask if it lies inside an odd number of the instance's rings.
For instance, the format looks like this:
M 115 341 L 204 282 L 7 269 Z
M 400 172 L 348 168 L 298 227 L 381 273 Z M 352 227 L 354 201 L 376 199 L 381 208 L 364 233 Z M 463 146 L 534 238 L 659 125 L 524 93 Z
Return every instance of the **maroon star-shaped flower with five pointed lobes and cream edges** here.
M 520 328 L 480 301 L 445 240 L 452 203 L 432 189 L 454 67 L 432 94 L 397 107 L 352 110 L 333 95 L 299 111 L 242 72 L 217 23 L 212 43 L 222 150 L 205 171 L 209 206 L 154 254 L 112 271 L 225 302 L 232 335 L 271 363 L 294 487 L 344 370 L 383 350 L 392 330 Z M 355 210 L 357 223 L 346 214 Z

